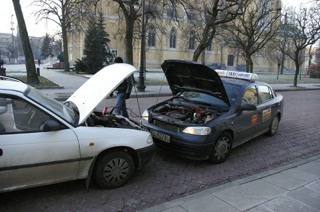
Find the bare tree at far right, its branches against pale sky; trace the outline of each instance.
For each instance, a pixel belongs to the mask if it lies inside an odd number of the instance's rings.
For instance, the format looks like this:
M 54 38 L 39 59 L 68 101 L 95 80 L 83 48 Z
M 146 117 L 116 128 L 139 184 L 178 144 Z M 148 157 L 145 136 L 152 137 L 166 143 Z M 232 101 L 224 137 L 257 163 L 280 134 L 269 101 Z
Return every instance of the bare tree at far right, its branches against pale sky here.
M 300 7 L 296 10 L 289 7 L 287 10 L 287 24 L 285 24 L 288 35 L 288 55 L 295 64 L 293 86 L 297 85 L 297 77 L 301 66 L 301 52 L 314 44 L 320 38 L 320 6 L 313 4 L 309 9 Z

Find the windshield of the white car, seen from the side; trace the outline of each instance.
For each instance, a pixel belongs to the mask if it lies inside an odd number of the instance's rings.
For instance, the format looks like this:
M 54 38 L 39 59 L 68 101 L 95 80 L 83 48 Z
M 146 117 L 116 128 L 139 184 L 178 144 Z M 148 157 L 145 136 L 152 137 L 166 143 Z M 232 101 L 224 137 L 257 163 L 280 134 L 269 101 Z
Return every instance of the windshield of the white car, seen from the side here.
M 72 123 L 72 119 L 75 115 L 71 108 L 64 106 L 50 96 L 43 94 L 37 89 L 30 86 L 28 86 L 25 95 L 38 104 L 42 105 L 43 107 L 47 108 L 48 110 L 52 111 L 54 114 L 58 115 L 65 121 Z

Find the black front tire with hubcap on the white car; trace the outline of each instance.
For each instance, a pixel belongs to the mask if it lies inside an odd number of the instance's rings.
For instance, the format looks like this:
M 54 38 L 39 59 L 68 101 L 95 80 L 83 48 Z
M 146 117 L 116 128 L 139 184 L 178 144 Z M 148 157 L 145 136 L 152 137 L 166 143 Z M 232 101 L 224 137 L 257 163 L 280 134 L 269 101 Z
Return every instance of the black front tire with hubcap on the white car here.
M 114 189 L 125 185 L 133 175 L 132 156 L 125 151 L 104 154 L 95 164 L 94 181 L 104 189 Z

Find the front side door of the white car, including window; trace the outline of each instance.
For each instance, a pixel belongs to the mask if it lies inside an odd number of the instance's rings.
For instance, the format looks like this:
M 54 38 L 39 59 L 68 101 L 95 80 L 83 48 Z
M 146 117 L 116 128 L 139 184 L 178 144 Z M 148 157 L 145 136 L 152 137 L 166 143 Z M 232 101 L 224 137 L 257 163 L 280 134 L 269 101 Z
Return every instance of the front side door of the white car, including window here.
M 74 178 L 80 157 L 74 132 L 66 127 L 43 132 L 41 124 L 53 116 L 22 99 L 7 96 L 5 102 L 0 113 L 0 190 Z

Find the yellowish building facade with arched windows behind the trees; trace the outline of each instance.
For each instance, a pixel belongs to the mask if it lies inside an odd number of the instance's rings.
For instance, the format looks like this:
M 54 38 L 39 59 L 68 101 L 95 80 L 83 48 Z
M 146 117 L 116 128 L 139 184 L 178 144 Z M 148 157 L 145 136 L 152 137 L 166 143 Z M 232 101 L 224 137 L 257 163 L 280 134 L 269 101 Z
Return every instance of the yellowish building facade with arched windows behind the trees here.
M 125 41 L 123 25 L 124 21 L 121 14 L 113 11 L 118 6 L 117 4 L 101 5 L 104 9 L 106 32 L 109 34 L 109 48 L 115 56 L 121 56 L 125 62 Z M 147 7 L 147 6 L 146 6 Z M 198 44 L 198 40 L 192 31 L 192 28 L 187 31 L 181 29 L 185 26 L 187 29 L 190 19 L 199 18 L 199 14 L 193 12 L 189 8 L 187 12 L 183 10 L 182 6 L 172 8 L 161 8 L 157 15 L 156 25 L 146 24 L 145 27 L 145 67 L 147 69 L 160 68 L 160 65 L 167 59 L 186 59 L 192 60 L 193 53 Z M 139 26 L 136 27 L 136 34 L 140 32 Z M 77 59 L 84 56 L 84 40 L 85 33 L 79 32 L 72 34 L 69 42 L 69 59 L 71 64 Z M 138 68 L 140 66 L 140 38 L 136 36 L 133 39 L 133 66 Z M 277 65 L 275 61 L 270 58 L 260 55 L 253 55 L 253 70 L 254 72 L 276 72 Z M 245 71 L 246 63 L 241 54 L 236 53 L 234 49 L 226 47 L 224 43 L 213 40 L 207 46 L 205 53 L 198 58 L 198 61 L 203 61 L 205 65 L 216 69 L 238 70 Z M 287 71 L 295 69 L 294 62 L 286 59 L 285 69 Z

